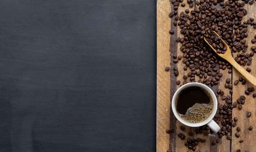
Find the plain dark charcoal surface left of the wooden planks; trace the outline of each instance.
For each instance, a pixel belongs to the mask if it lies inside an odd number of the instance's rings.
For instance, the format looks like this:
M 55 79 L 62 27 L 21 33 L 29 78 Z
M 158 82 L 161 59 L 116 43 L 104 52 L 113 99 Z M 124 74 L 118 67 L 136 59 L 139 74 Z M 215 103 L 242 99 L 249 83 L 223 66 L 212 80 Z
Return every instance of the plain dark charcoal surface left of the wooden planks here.
M 0 0 L 0 152 L 154 152 L 155 0 Z

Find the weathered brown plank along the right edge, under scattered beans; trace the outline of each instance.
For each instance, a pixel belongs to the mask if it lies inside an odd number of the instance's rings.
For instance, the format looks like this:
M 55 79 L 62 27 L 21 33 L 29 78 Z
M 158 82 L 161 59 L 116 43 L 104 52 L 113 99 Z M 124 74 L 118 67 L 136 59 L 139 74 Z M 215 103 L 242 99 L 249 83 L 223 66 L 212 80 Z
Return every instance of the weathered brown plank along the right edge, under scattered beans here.
M 245 4 L 244 8 L 247 9 L 248 13 L 246 16 L 243 17 L 243 21 L 247 21 L 249 18 L 254 18 L 256 20 L 256 3 L 254 4 Z M 252 50 L 250 49 L 252 46 L 256 46 L 255 44 L 252 44 L 251 40 L 254 38 L 256 35 L 256 29 L 254 27 L 248 25 L 248 37 L 245 38 L 247 40 L 248 44 L 248 49 L 246 53 L 251 53 Z M 242 52 L 239 52 L 242 53 Z M 245 54 L 246 54 L 245 53 Z M 234 56 L 238 54 L 234 53 Z M 255 68 L 255 63 L 256 63 L 256 57 L 252 57 L 252 65 L 250 66 L 243 66 L 245 69 L 246 67 L 250 67 L 252 69 L 251 74 L 256 76 L 256 68 Z M 233 83 L 235 80 L 238 80 L 239 77 L 242 77 L 241 74 L 239 74 L 236 70 L 233 71 Z M 249 95 L 245 94 L 245 90 L 248 87 L 252 87 L 253 85 L 250 84 L 248 81 L 245 85 L 242 85 L 241 82 L 233 87 L 234 94 L 232 96 L 233 102 L 236 102 L 238 98 L 240 98 L 241 95 L 244 95 L 246 97 L 245 99 L 245 104 L 243 105 L 243 108 L 241 110 L 238 110 L 238 108 L 233 109 L 233 118 L 237 117 L 238 121 L 236 122 L 237 125 L 236 127 L 233 128 L 232 130 L 232 143 L 231 143 L 231 152 L 235 152 L 236 150 L 240 149 L 241 152 L 245 152 L 246 150 L 249 150 L 249 152 L 255 152 L 256 151 L 256 144 L 254 141 L 254 136 L 256 135 L 256 98 L 252 97 L 252 94 L 255 93 L 251 92 Z M 247 117 L 247 112 L 252 112 L 252 116 Z M 249 126 L 253 126 L 253 130 L 249 131 Z M 237 127 L 241 128 L 241 131 L 238 132 L 236 130 Z M 240 137 L 237 138 L 235 136 L 236 133 L 240 134 Z M 239 143 L 240 140 L 244 140 L 243 143 Z

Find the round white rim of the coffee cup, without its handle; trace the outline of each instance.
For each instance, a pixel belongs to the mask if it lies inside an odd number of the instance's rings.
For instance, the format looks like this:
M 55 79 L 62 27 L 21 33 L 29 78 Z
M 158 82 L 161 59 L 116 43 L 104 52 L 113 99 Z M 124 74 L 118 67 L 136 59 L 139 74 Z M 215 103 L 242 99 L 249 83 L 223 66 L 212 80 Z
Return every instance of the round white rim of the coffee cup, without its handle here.
M 207 118 L 207 120 L 205 120 L 203 122 L 200 122 L 200 123 L 189 123 L 189 122 L 184 121 L 180 117 L 180 115 L 178 114 L 178 112 L 176 110 L 176 106 L 175 106 L 175 98 L 180 93 L 180 91 L 182 89 L 186 88 L 186 87 L 191 87 L 191 86 L 197 86 L 197 87 L 202 87 L 202 88 L 206 89 L 207 92 L 209 92 L 209 94 L 213 98 L 213 112 L 211 113 L 209 118 Z M 186 84 L 182 85 L 180 88 L 178 88 L 176 90 L 176 92 L 174 93 L 174 95 L 173 95 L 171 105 L 172 105 L 171 107 L 172 107 L 172 110 L 173 110 L 173 114 L 177 118 L 177 120 L 180 121 L 181 123 L 183 123 L 184 125 L 189 126 L 189 127 L 200 127 L 200 126 L 206 125 L 207 123 L 209 123 L 213 119 L 213 117 L 215 116 L 215 114 L 217 112 L 217 109 L 218 109 L 218 101 L 217 101 L 217 98 L 216 98 L 214 92 L 212 91 L 212 89 L 210 87 L 208 87 L 207 85 L 204 85 L 202 83 L 197 83 L 197 82 L 186 83 Z

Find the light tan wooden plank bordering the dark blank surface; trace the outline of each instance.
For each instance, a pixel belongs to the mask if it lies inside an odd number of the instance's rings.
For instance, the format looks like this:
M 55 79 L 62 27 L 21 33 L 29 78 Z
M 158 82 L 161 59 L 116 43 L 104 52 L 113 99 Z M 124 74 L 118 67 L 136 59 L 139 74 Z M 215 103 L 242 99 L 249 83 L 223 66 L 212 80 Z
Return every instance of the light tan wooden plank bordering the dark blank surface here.
M 157 0 L 157 152 L 166 152 L 169 149 L 170 128 L 170 34 L 171 19 L 168 13 L 171 8 L 168 0 Z

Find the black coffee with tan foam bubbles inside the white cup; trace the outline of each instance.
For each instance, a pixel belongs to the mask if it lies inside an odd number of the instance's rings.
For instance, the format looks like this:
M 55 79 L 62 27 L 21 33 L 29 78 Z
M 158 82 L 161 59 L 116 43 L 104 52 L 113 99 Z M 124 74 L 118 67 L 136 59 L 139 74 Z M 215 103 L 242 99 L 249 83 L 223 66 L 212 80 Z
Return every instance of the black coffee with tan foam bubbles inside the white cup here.
M 187 87 L 176 99 L 176 110 L 185 121 L 200 123 L 211 116 L 213 99 L 201 87 Z

